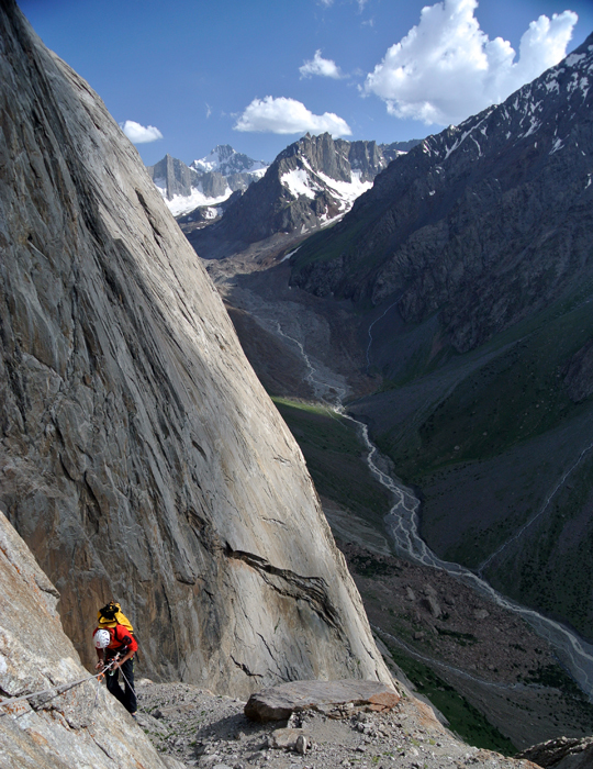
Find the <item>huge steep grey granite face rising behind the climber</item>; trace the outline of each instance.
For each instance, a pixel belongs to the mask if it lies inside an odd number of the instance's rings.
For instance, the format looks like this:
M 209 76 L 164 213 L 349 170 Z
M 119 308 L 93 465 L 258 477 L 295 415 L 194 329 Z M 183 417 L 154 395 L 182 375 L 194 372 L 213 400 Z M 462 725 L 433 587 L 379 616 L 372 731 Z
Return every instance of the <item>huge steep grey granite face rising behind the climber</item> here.
M 92 659 L 152 677 L 390 680 L 302 455 L 100 99 L 0 10 L 0 503 Z

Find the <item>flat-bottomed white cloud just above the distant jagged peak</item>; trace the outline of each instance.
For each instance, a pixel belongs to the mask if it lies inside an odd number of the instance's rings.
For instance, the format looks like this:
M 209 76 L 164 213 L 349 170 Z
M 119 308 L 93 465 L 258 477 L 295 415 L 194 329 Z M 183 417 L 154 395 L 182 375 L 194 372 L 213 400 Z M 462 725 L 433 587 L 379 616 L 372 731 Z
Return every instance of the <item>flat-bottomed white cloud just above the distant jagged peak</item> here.
M 233 127 L 273 134 L 328 132 L 334 137 L 353 133 L 348 123 L 333 112 L 315 115 L 300 101 L 286 97 L 254 99 Z

